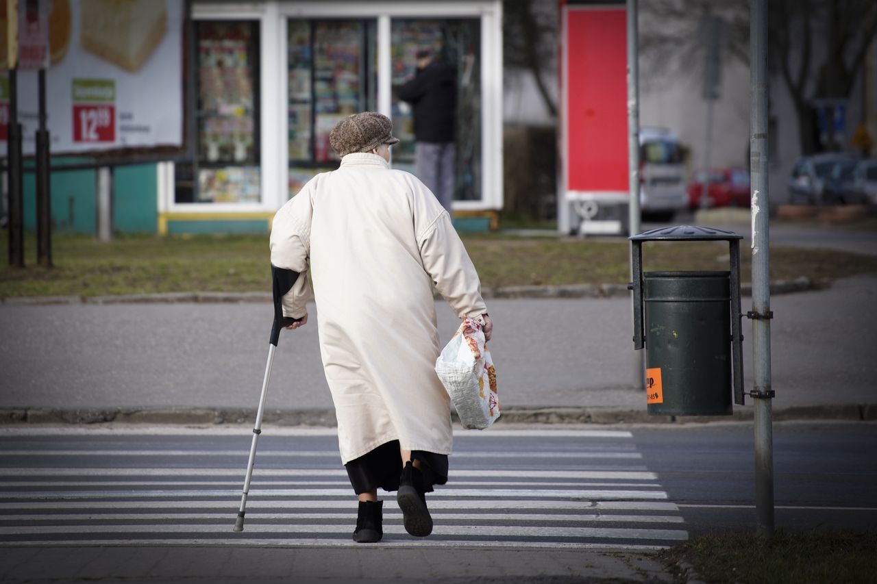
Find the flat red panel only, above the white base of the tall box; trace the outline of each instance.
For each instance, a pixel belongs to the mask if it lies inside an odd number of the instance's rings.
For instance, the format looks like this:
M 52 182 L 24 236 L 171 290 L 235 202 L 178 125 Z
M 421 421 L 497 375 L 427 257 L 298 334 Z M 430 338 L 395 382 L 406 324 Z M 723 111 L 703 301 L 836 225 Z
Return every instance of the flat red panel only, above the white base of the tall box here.
M 628 193 L 624 8 L 567 7 L 567 192 Z

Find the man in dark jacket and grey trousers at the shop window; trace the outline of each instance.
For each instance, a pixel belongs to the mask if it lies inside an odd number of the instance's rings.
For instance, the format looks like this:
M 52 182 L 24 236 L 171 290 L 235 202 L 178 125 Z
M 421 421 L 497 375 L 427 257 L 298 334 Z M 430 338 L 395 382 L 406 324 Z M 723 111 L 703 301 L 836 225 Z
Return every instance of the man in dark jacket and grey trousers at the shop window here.
M 418 51 L 417 74 L 398 96 L 414 110 L 415 174 L 453 217 L 457 71 L 437 61 L 431 50 Z

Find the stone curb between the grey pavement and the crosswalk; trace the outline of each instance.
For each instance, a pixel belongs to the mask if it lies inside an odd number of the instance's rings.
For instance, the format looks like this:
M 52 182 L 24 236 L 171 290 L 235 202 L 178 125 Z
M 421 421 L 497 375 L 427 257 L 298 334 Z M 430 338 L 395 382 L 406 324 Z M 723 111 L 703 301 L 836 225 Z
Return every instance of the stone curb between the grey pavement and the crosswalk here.
M 32 424 L 153 424 L 216 425 L 250 424 L 255 410 L 210 408 L 61 410 L 43 408 L 0 409 L 0 425 Z M 459 422 L 452 413 L 454 422 Z M 624 408 L 505 408 L 497 424 L 707 424 L 752 420 L 752 409 L 736 410 L 732 416 L 649 416 L 642 410 Z M 877 420 L 877 403 L 830 403 L 774 408 L 774 420 Z M 276 426 L 334 427 L 335 410 L 266 410 L 263 421 Z

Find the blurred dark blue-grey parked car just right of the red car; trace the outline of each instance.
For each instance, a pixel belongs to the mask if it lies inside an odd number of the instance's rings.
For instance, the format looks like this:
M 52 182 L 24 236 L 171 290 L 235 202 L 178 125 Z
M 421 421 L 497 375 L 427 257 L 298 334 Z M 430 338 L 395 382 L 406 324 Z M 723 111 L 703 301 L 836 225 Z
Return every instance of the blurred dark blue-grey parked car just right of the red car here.
M 789 203 L 847 203 L 844 192 L 852 183 L 852 169 L 858 161 L 852 153 L 802 156 L 788 179 Z

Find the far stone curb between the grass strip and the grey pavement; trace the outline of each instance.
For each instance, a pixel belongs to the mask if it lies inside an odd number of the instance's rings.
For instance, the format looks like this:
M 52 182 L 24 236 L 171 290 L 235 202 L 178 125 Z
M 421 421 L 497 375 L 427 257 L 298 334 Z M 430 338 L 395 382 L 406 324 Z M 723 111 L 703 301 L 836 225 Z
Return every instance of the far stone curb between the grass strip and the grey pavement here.
M 805 292 L 818 288 L 807 276 L 794 280 L 772 281 L 771 294 Z M 501 286 L 484 288 L 481 296 L 492 298 L 619 298 L 630 296 L 626 284 L 564 284 L 560 286 Z M 742 296 L 752 296 L 752 286 L 740 286 Z M 436 298 L 441 296 L 436 294 Z M 269 303 L 270 292 L 161 292 L 157 294 L 121 294 L 118 296 L 26 296 L 0 298 L 10 306 L 48 304 L 172 304 L 172 303 Z

